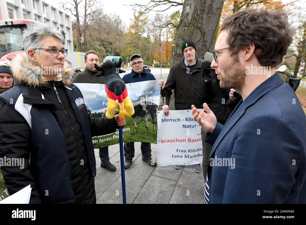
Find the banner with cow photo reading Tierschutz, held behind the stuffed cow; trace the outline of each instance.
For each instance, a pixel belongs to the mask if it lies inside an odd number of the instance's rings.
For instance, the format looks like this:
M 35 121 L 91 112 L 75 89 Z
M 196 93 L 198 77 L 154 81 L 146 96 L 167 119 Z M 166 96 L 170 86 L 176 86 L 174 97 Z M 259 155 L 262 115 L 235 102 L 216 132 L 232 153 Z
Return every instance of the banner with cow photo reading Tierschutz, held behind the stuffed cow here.
M 104 117 L 107 109 L 107 97 L 104 84 L 75 83 L 81 90 L 85 105 L 91 111 L 92 118 Z M 123 142 L 150 142 L 157 139 L 157 112 L 159 105 L 160 87 L 157 80 L 142 81 L 126 84 L 129 98 L 135 113 L 125 118 Z M 80 101 L 76 99 L 76 102 Z M 119 143 L 119 131 L 108 135 L 92 137 L 94 148 L 102 148 Z

